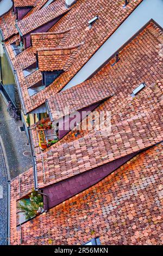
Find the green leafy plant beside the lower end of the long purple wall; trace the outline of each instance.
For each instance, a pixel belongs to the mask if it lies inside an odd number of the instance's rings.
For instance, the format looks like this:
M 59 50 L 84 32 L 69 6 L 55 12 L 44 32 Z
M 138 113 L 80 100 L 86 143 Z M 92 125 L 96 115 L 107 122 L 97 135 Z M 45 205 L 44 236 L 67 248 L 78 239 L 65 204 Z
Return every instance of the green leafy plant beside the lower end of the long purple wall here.
M 24 212 L 26 220 L 29 220 L 43 212 L 43 198 L 41 194 L 33 191 L 30 194 L 29 199 L 30 200 L 22 199 L 18 203 L 18 209 Z

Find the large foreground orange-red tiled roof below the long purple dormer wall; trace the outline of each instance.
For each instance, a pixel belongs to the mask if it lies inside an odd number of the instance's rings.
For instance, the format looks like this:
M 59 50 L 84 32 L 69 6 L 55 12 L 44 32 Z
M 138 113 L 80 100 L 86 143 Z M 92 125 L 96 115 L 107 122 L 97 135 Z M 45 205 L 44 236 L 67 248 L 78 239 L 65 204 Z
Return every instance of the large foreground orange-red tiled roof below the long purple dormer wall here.
M 11 245 L 161 245 L 162 146 L 16 229 L 18 178 L 11 182 Z M 28 184 L 28 177 L 27 177 Z M 21 229 L 21 230 L 20 230 Z

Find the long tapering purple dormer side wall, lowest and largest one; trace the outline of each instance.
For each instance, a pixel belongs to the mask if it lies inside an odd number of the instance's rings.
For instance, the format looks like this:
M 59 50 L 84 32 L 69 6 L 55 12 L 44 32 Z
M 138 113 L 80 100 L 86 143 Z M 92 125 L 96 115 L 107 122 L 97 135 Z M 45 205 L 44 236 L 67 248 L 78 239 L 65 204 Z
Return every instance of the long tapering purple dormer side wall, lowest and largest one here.
M 48 195 L 48 205 L 47 198 L 43 198 L 44 209 L 47 210 L 49 208 L 53 208 L 55 205 L 58 205 L 68 198 L 86 190 L 92 185 L 95 185 L 98 181 L 104 179 L 118 167 L 132 159 L 136 154 L 137 153 L 133 153 L 128 156 L 121 157 L 120 159 L 110 163 L 103 164 L 103 166 L 93 168 L 87 172 L 43 188 L 43 193 Z

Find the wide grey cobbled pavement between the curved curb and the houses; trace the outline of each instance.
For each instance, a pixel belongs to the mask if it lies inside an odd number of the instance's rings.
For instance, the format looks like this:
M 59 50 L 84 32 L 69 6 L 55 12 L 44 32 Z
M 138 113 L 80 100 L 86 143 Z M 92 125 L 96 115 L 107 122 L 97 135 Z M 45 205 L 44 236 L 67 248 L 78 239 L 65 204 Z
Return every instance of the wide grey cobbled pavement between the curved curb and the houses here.
M 7 154 L 11 179 L 32 167 L 30 145 L 27 145 L 25 132 L 20 132 L 21 121 L 12 119 L 7 112 L 7 106 L 0 94 L 0 135 Z M 30 151 L 30 156 L 24 156 L 24 151 Z

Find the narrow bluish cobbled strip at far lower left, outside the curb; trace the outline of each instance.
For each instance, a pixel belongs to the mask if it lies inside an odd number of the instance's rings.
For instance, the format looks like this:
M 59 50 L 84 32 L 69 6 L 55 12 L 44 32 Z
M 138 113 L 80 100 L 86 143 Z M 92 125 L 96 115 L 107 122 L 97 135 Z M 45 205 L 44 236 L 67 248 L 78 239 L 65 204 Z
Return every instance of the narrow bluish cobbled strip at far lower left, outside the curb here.
M 0 245 L 7 244 L 7 168 L 0 142 Z

